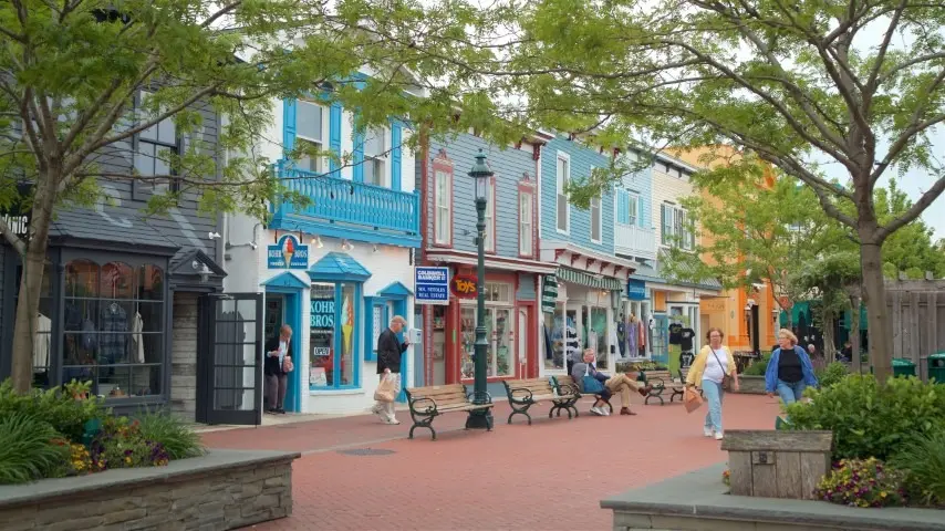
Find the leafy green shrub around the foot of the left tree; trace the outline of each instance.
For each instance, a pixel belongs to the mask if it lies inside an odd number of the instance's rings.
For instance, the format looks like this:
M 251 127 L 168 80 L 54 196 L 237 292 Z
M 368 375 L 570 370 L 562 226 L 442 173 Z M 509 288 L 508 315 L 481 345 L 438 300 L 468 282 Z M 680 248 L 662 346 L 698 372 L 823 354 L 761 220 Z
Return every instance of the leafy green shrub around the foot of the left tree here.
M 21 395 L 13 391 L 8 379 L 0 384 L 0 415 L 22 413 L 46 423 L 72 442 L 82 442 L 85 423 L 93 418 L 104 419 L 108 412 L 97 398 L 76 400 L 74 397 L 89 393 L 89 383 L 68 384 L 65 389 L 32 389 Z

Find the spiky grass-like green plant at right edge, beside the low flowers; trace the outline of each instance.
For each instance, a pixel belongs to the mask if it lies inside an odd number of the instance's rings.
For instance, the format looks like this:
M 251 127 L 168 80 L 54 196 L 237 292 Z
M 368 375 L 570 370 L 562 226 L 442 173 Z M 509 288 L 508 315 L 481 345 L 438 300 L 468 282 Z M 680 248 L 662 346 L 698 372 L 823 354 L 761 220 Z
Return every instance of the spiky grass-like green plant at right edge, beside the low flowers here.
M 907 441 L 891 465 L 906 472 L 911 500 L 927 506 L 945 504 L 945 430 Z

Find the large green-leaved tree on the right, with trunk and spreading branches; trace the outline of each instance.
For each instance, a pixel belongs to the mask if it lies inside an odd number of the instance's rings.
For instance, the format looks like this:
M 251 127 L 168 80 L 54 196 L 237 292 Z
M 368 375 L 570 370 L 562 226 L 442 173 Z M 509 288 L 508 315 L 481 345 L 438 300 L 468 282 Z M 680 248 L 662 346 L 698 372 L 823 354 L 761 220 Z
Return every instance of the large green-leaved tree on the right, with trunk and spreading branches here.
M 510 113 L 562 131 L 631 135 L 651 146 L 729 144 L 803 181 L 861 244 L 870 350 L 876 376 L 891 374 L 882 246 L 945 189 L 931 145 L 945 121 L 939 4 L 542 0 L 517 8 L 518 34 L 501 51 L 454 64 L 497 74 L 495 92 L 527 96 Z M 824 165 L 850 186 L 824 178 Z M 906 170 L 927 175 L 926 191 L 884 221 L 876 183 Z

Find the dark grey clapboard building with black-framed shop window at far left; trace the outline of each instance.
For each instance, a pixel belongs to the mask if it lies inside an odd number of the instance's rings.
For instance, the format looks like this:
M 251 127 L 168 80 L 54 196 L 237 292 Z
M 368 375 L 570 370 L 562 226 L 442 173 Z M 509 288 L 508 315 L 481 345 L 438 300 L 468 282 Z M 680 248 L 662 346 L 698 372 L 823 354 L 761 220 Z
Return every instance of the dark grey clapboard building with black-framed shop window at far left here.
M 134 105 L 147 97 L 142 92 Z M 172 119 L 98 154 L 102 171 L 167 175 L 165 152 L 184 153 L 191 142 L 214 150 L 220 117 L 199 105 L 202 122 L 184 135 Z M 212 177 L 212 176 L 210 176 Z M 29 191 L 31 185 L 23 185 Z M 199 196 L 184 194 L 163 216 L 145 216 L 155 186 L 143 180 L 100 183 L 103 199 L 92 208 L 63 208 L 52 223 L 49 266 L 34 332 L 33 383 L 54 387 L 73 379 L 90 382 L 117 412 L 169 405 L 189 419 L 205 416 L 212 383 L 200 378 L 198 343 L 208 341 L 211 323 L 199 308 L 222 289 L 222 242 L 218 218 L 198 214 Z M 0 212 L 20 221 L 29 212 Z M 10 374 L 20 257 L 0 243 L 0 379 Z M 228 397 L 243 407 L 241 397 Z M 251 397 L 250 397 L 251 398 Z M 202 413 L 201 413 L 202 412 Z

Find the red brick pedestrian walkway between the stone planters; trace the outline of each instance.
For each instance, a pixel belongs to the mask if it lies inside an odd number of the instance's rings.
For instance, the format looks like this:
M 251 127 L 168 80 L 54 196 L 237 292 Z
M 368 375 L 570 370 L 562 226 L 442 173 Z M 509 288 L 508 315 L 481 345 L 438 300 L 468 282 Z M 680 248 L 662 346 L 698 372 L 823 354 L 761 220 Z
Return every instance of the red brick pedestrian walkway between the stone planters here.
M 501 404 L 492 433 L 458 429 L 463 415 L 447 415 L 436 441 L 426 434 L 407 440 L 406 413 L 401 426 L 359 416 L 204 438 L 211 447 L 305 452 L 293 468 L 293 514 L 256 527 L 267 531 L 604 530 L 611 516 L 600 509 L 602 498 L 726 458 L 702 436 L 700 415 L 678 404 L 638 405 L 637 416 L 609 418 L 585 415 L 589 407 L 570 421 L 548 420 L 542 407 L 546 418 L 534 415 L 532 426 L 509 426 Z M 726 396 L 729 429 L 772 428 L 777 413 L 764 396 Z M 393 454 L 338 451 L 364 447 Z

